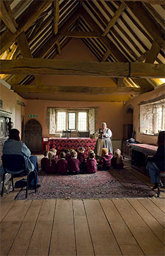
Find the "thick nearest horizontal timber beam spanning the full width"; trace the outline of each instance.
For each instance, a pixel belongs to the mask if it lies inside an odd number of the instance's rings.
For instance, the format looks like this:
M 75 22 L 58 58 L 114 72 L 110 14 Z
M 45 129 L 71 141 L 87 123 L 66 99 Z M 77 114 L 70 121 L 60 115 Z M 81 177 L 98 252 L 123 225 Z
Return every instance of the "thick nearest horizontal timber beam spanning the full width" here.
M 164 64 L 45 59 L 0 60 L 1 74 L 164 78 Z

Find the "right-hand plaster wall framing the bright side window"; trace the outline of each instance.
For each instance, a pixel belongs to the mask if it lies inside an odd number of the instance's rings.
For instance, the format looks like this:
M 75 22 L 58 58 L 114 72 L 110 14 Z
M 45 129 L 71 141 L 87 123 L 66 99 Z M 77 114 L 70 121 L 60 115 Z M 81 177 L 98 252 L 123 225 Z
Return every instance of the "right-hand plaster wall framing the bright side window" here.
M 141 101 L 147 101 L 150 99 L 155 99 L 162 94 L 165 93 L 165 85 L 159 86 L 158 88 L 155 88 L 155 90 L 147 93 L 143 93 L 139 96 L 132 97 L 129 101 L 126 102 L 126 105 L 124 107 L 124 122 L 127 122 L 129 124 L 129 114 L 126 114 L 127 106 L 131 104 L 134 108 L 133 113 L 133 129 L 136 131 L 136 140 L 140 141 L 141 143 L 151 143 L 156 144 L 157 143 L 157 136 L 152 135 L 146 135 L 146 134 L 140 134 L 139 132 L 139 126 L 140 126 L 140 106 L 138 105 Z

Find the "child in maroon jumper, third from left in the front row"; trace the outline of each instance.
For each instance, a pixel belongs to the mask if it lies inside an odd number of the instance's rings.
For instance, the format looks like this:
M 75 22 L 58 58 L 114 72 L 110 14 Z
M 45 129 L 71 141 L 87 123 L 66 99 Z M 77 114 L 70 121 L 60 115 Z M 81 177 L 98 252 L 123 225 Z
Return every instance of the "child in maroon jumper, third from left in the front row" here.
M 71 158 L 68 160 L 68 170 L 69 174 L 80 173 L 80 161 L 77 159 L 77 152 L 75 150 L 71 151 Z

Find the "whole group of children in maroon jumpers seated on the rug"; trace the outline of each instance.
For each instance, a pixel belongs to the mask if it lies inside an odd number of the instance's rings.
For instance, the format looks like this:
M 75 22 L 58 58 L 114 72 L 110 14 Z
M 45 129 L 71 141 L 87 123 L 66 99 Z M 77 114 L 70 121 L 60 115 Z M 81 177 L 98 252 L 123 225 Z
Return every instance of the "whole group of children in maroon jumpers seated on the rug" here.
M 89 156 L 85 158 L 85 148 L 78 148 L 78 153 L 74 149 L 65 149 L 60 156 L 56 156 L 55 148 L 43 153 L 41 159 L 41 170 L 48 174 L 59 173 L 61 175 L 96 173 L 97 170 L 110 170 L 110 166 L 115 169 L 122 169 L 124 164 L 120 149 L 115 150 L 114 155 L 108 153 L 107 148 L 103 148 L 101 159 L 95 158 L 94 151 L 89 148 Z

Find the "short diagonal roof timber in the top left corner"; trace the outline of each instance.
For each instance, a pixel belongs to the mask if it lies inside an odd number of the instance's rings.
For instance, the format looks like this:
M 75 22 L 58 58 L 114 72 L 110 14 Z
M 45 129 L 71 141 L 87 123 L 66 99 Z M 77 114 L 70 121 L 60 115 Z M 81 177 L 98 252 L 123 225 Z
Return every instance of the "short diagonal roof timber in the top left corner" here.
M 11 33 L 17 32 L 17 22 L 13 17 L 8 1 L 0 1 L 0 17 Z

